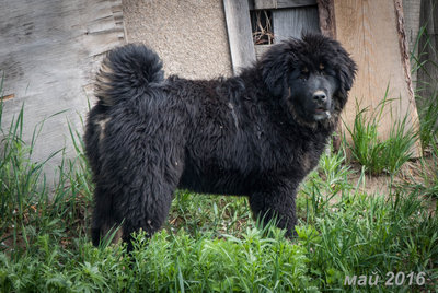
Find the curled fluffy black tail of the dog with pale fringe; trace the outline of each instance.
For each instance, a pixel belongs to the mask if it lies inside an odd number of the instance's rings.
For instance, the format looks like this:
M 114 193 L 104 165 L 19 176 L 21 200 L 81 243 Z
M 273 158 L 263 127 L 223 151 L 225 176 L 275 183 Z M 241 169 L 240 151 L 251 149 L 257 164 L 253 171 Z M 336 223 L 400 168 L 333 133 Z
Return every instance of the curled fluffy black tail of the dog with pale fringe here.
M 113 49 L 96 75 L 95 95 L 106 106 L 130 99 L 163 80 L 162 67 L 158 55 L 145 45 Z

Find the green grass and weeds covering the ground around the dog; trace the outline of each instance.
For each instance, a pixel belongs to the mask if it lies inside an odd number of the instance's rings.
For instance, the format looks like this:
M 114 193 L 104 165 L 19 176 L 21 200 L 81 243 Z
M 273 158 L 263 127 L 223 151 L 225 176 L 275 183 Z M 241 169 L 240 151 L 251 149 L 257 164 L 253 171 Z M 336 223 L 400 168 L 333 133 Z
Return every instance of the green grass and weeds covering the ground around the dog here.
M 25 141 L 24 109 L 5 124 L 1 103 L 0 292 L 438 291 L 437 99 L 418 133 L 402 119 L 385 141 L 377 124 L 390 98 L 378 112 L 358 109 L 353 142 L 327 150 L 301 186 L 295 239 L 273 224 L 261 227 L 245 198 L 178 190 L 164 228 L 150 239 L 136 234 L 130 254 L 111 244 L 111 235 L 91 245 L 93 185 L 81 131 L 70 128 L 73 159 L 59 150 L 34 162 L 45 121 Z M 367 191 L 370 174 L 395 177 L 414 162 L 417 136 L 426 150 L 415 161 L 417 176 Z M 64 160 L 53 185 L 43 169 L 57 154 Z M 424 282 L 387 285 L 388 272 L 423 273 Z M 347 276 L 379 278 L 348 284 Z

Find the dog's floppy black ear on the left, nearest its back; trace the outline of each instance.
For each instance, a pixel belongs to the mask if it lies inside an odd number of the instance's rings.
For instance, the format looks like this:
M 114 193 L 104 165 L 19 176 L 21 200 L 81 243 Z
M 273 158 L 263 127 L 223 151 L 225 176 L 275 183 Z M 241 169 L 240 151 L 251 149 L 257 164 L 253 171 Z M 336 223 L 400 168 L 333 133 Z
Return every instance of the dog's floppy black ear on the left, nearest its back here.
M 291 71 L 293 51 L 291 44 L 281 43 L 273 46 L 262 58 L 262 77 L 274 96 L 287 93 L 287 75 Z

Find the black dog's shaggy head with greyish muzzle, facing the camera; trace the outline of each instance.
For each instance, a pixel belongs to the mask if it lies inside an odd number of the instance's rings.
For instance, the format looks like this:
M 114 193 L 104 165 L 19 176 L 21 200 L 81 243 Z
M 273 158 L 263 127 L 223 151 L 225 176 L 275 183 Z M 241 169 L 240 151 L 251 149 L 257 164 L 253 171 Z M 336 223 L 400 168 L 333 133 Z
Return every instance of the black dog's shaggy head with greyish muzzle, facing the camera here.
M 356 63 L 336 40 L 303 35 L 275 45 L 262 59 L 263 80 L 297 122 L 337 117 L 347 102 Z

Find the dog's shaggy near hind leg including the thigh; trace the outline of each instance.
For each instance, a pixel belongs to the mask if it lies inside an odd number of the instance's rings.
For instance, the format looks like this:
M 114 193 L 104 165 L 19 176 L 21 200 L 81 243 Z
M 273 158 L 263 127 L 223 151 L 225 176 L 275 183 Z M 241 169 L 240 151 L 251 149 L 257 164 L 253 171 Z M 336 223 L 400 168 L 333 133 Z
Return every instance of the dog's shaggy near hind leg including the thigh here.
M 115 107 L 100 143 L 96 186 L 102 187 L 102 195 L 95 194 L 95 208 L 104 208 L 95 214 L 97 220 L 101 214 L 111 215 L 110 221 L 103 218 L 94 224 L 101 230 L 112 228 L 106 224 L 113 220 L 116 227 L 122 224 L 128 249 L 132 248 L 132 232 L 141 228 L 151 236 L 160 230 L 183 173 L 184 109 L 168 103 L 166 97 L 150 93 Z

